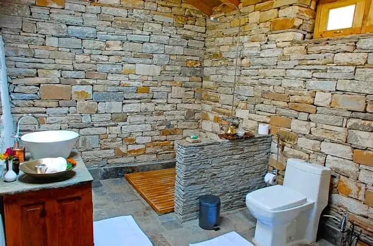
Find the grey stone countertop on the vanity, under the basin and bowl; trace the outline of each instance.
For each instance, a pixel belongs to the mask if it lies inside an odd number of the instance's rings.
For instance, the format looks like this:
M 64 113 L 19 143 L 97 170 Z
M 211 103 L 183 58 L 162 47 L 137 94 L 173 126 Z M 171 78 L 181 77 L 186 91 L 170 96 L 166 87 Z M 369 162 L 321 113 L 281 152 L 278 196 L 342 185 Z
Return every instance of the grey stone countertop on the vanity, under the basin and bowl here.
M 25 175 L 21 171 L 19 172 L 17 180 L 14 182 L 7 183 L 4 182 L 3 178 L 1 178 L 0 195 L 12 195 L 43 189 L 63 188 L 92 182 L 93 178 L 79 154 L 72 152 L 69 158 L 77 161 L 77 167 L 65 176 L 53 179 L 53 181 L 34 179 Z

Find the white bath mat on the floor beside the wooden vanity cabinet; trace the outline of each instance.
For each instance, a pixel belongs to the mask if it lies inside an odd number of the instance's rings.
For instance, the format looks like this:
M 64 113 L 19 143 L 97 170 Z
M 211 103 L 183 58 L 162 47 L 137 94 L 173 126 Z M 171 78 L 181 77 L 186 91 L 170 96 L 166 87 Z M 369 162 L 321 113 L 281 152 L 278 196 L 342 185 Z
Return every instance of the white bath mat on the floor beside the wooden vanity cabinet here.
M 93 222 L 94 246 L 153 246 L 131 215 Z

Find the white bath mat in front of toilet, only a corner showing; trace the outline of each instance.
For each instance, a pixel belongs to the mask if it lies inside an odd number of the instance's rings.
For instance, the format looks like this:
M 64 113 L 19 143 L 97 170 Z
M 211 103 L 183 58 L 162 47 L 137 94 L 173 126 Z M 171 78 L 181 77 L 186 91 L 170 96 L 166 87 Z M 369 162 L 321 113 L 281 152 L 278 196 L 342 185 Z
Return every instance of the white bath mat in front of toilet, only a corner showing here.
M 230 232 L 217 238 L 189 246 L 254 246 L 236 232 Z

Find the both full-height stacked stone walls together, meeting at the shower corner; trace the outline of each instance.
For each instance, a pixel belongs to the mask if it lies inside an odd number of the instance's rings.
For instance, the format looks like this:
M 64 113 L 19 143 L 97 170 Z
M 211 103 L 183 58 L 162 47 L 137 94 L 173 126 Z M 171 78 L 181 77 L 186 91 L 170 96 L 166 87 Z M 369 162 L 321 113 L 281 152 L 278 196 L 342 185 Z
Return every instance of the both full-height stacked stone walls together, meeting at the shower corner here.
M 242 1 L 234 112 L 248 130 L 281 134 L 280 175 L 293 157 L 330 167 L 330 212 L 373 243 L 373 36 L 312 40 L 315 8 Z M 204 17 L 186 0 L 0 0 L 14 120 L 78 131 L 106 178 L 166 167 L 175 140 L 216 137 L 230 115 L 238 15 Z M 271 152 L 270 169 L 275 142 Z

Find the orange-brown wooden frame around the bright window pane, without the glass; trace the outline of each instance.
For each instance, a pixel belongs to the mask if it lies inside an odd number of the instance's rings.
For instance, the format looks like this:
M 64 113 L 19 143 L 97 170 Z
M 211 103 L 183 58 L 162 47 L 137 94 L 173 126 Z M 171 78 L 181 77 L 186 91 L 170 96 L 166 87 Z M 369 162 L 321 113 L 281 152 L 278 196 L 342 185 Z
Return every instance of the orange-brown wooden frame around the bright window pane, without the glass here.
M 317 4 L 314 38 L 373 32 L 373 0 L 320 0 Z M 326 30 L 329 10 L 356 4 L 352 27 Z

